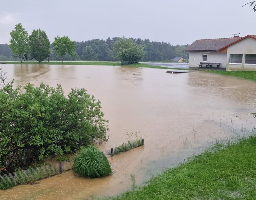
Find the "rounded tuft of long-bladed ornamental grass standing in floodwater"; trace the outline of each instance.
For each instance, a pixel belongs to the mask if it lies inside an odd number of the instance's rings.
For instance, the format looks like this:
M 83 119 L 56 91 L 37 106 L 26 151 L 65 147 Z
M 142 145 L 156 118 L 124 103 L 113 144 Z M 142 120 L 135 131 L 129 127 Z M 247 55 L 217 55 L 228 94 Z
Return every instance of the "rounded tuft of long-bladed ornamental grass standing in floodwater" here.
M 77 154 L 73 172 L 83 177 L 98 178 L 110 175 L 112 170 L 104 153 L 91 145 Z

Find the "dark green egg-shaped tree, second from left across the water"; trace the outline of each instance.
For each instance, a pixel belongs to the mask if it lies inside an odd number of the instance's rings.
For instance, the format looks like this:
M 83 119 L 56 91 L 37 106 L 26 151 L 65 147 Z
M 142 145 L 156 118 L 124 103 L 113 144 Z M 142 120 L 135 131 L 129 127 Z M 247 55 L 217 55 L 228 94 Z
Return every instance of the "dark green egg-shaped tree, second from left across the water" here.
M 48 57 L 50 53 L 50 41 L 40 29 L 34 29 L 28 38 L 30 55 L 39 63 Z

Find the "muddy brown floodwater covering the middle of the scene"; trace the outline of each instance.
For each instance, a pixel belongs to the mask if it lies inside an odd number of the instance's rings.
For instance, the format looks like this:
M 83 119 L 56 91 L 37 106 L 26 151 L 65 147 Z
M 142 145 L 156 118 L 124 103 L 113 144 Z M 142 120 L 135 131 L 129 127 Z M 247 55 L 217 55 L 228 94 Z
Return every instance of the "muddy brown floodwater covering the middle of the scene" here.
M 256 82 L 205 72 L 170 74 L 164 69 L 89 65 L 7 65 L 15 84 L 42 81 L 65 93 L 85 88 L 100 99 L 110 135 L 106 150 L 136 135 L 144 146 L 109 158 L 113 174 L 85 179 L 72 171 L 34 185 L 0 191 L 0 199 L 90 199 L 120 194 L 167 167 L 198 154 L 216 138 L 253 131 Z

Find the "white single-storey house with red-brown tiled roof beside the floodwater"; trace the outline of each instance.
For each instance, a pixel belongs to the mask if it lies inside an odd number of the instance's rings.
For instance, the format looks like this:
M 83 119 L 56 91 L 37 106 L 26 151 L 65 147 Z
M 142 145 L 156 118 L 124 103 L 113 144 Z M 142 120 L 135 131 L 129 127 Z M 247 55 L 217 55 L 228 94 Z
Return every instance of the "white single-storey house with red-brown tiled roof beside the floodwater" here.
M 226 70 L 256 70 L 256 35 L 196 40 L 189 52 L 189 67 L 202 63 L 221 63 Z

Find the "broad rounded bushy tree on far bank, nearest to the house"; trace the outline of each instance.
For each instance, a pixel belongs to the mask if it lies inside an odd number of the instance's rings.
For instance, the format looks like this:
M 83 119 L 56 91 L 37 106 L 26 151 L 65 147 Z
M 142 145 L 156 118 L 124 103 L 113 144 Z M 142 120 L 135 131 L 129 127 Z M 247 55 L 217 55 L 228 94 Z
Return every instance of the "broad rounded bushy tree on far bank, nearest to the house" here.
M 128 61 L 129 64 L 137 64 L 143 58 L 144 47 L 136 44 L 132 38 L 119 38 L 113 44 L 113 52 L 116 58 L 121 61 Z

